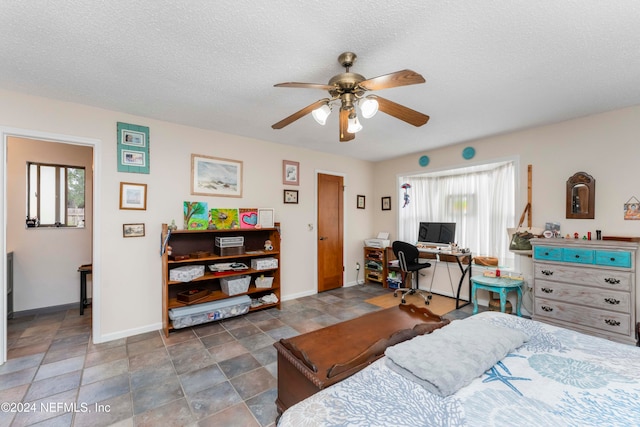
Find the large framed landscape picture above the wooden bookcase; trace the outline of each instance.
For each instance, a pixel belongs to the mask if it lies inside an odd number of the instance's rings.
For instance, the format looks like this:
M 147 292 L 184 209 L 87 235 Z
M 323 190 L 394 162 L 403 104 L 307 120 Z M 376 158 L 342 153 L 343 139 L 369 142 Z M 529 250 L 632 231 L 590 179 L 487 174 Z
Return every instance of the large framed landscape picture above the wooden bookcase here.
M 191 194 L 242 197 L 242 161 L 192 154 Z

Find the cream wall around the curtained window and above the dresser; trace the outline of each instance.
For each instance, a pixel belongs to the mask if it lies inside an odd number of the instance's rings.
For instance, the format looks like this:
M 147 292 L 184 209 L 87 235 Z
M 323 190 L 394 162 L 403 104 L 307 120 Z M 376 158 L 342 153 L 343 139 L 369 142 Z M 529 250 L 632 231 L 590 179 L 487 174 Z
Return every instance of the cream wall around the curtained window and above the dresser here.
M 636 177 L 640 161 L 639 135 L 640 106 L 635 106 L 378 162 L 374 175 L 375 197 L 391 195 L 394 203 L 392 211 L 376 212 L 374 229 L 395 230 L 397 235 L 399 175 L 516 157 L 520 166 L 519 202 L 514 223 L 526 204 L 527 165 L 530 164 L 534 226 L 559 222 L 563 235 L 577 232 L 583 236 L 591 231 L 595 236 L 595 230 L 602 230 L 604 236 L 640 236 L 640 221 L 625 221 L 623 210 L 624 203 L 632 196 L 640 198 Z M 467 146 L 476 150 L 475 157 L 469 161 L 462 158 L 462 150 Z M 421 168 L 418 159 L 425 154 L 430 162 Z M 566 181 L 579 171 L 596 180 L 595 219 L 592 220 L 565 218 Z M 420 203 L 420 200 L 413 198 L 411 203 Z M 531 259 L 517 258 L 519 269 L 530 281 Z M 640 311 L 640 292 L 636 297 Z M 637 317 L 640 318 L 640 313 Z

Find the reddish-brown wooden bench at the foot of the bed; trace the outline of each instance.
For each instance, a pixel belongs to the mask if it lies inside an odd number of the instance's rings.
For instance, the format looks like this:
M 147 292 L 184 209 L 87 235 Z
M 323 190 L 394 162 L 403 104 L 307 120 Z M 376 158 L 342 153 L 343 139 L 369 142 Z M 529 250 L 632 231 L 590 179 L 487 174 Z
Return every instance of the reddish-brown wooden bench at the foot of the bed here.
M 449 323 L 427 308 L 399 305 L 274 343 L 278 352 L 278 399 L 290 406 L 355 374 L 387 347 Z

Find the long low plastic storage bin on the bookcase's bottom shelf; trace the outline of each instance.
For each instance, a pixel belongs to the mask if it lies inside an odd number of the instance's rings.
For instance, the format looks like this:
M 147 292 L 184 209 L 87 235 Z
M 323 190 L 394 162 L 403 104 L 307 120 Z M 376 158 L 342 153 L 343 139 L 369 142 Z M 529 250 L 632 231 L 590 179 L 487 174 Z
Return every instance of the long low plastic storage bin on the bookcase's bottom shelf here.
M 189 307 L 172 308 L 169 310 L 169 318 L 173 323 L 173 328 L 180 329 L 227 317 L 240 316 L 248 313 L 250 307 L 251 298 L 248 295 L 242 295 Z

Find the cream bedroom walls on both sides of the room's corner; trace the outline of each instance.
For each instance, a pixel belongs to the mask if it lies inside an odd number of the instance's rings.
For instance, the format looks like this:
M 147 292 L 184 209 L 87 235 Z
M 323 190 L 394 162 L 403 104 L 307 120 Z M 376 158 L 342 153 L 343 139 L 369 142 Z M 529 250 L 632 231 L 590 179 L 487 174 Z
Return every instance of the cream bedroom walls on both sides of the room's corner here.
M 526 198 L 526 165 L 533 165 L 533 219 L 562 224 L 563 233 L 586 233 L 595 229 L 604 235 L 640 235 L 640 222 L 624 221 L 622 205 L 631 196 L 640 197 L 635 179 L 640 159 L 640 107 L 568 121 L 552 126 L 501 135 L 379 163 L 369 163 L 235 135 L 178 126 L 115 111 L 0 91 L 0 126 L 51 132 L 99 140 L 100 159 L 97 194 L 100 212 L 98 236 L 101 264 L 100 325 L 97 341 L 159 328 L 161 276 L 160 224 L 182 218 L 182 202 L 201 200 L 217 207 L 273 207 L 282 223 L 282 293 L 284 298 L 315 292 L 315 173 L 345 176 L 346 283 L 354 283 L 355 263 L 362 263 L 362 240 L 380 230 L 397 236 L 398 174 L 437 170 L 470 163 L 517 157 L 520 163 L 520 202 Z M 151 173 L 118 173 L 116 122 L 150 127 Z M 335 143 L 335 141 L 328 141 Z M 473 146 L 471 161 L 461 157 L 465 146 Z M 191 153 L 242 160 L 244 194 L 237 198 L 191 196 Z M 427 154 L 427 168 L 418 159 Z M 300 162 L 300 204 L 282 202 L 282 160 Z M 596 179 L 596 218 L 566 220 L 565 182 L 577 171 Z M 146 211 L 118 209 L 119 183 L 148 184 Z M 4 188 L 4 185 L 2 186 Z M 356 195 L 367 196 L 367 209 L 356 209 Z M 393 209 L 381 211 L 380 197 L 392 196 Z M 413 203 L 417 201 L 414 199 Z M 122 224 L 144 222 L 144 238 L 123 239 Z M 310 231 L 308 224 L 312 224 Z M 0 236 L 4 238 L 4 236 Z M 525 267 L 526 262 L 525 260 Z M 530 263 L 529 263 L 530 266 Z M 47 266 L 43 266 L 47 267 Z M 75 265 L 74 265 L 75 267 Z M 4 275 L 4 271 L 0 272 Z M 75 270 L 74 270 L 75 274 Z M 362 278 L 360 276 L 360 278 Z M 76 278 L 73 279 L 74 284 Z

